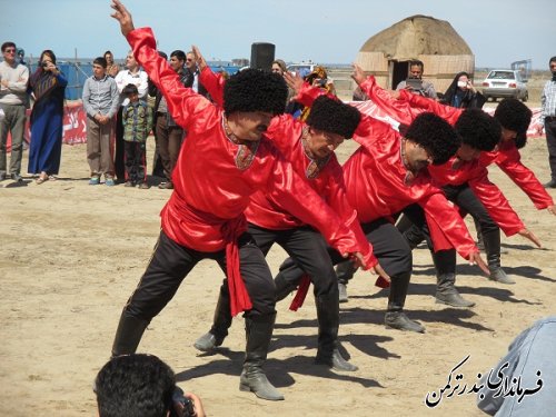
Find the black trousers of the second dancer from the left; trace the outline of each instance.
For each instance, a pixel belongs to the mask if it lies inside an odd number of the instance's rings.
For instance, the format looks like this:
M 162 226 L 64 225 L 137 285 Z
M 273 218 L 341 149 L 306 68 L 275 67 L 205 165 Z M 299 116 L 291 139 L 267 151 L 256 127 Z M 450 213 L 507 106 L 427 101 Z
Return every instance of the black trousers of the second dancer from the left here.
M 337 278 L 328 255 L 328 245 L 317 230 L 308 226 L 269 230 L 249 225 L 249 234 L 265 256 L 272 244 L 280 245 L 310 277 L 315 286 L 315 297 L 337 291 Z

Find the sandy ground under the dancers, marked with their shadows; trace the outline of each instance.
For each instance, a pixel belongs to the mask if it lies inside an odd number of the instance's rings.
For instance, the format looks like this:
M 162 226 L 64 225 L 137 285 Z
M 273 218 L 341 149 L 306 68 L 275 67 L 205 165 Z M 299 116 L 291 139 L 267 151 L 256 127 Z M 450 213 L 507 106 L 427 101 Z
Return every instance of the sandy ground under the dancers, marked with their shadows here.
M 149 139 L 150 140 L 150 139 Z M 150 145 L 152 146 L 152 143 Z M 342 159 L 354 149 L 345 145 Z M 544 139 L 533 139 L 524 161 L 548 179 Z M 23 161 L 27 167 L 27 160 Z M 488 281 L 459 259 L 458 284 L 473 309 L 435 304 L 434 269 L 426 249 L 415 251 L 415 274 L 406 308 L 424 335 L 383 326 L 385 292 L 358 272 L 341 305 L 340 340 L 359 366 L 334 374 L 315 366 L 316 312 L 311 299 L 298 312 L 278 305 L 267 364 L 285 401 L 257 399 L 238 389 L 245 344 L 236 318 L 225 349 L 200 356 L 192 347 L 209 329 L 222 272 L 201 262 L 169 306 L 153 319 L 139 347 L 165 359 L 179 385 L 198 393 L 210 416 L 480 416 L 473 395 L 425 405 L 446 385 L 451 368 L 470 387 L 490 369 L 510 340 L 535 320 L 554 314 L 555 220 L 538 212 L 497 168 L 492 178 L 506 191 L 526 225 L 542 239 L 535 249 L 520 237 L 503 237 L 506 270 L 517 284 Z M 158 214 L 169 191 L 90 187 L 85 146 L 64 146 L 58 181 L 24 187 L 1 182 L 0 415 L 92 416 L 92 381 L 110 355 L 123 304 L 141 276 L 159 230 Z M 550 191 L 554 193 L 554 191 Z M 284 251 L 274 248 L 274 271 Z M 530 397 L 534 399 L 534 397 Z

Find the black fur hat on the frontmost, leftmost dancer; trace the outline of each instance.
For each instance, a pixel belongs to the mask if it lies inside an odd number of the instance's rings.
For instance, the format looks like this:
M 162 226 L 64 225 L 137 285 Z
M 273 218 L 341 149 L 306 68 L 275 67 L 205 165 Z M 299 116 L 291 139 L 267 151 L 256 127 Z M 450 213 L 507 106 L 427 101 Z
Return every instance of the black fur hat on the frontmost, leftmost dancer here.
M 224 110 L 284 113 L 288 88 L 277 73 L 248 68 L 236 72 L 224 86 Z

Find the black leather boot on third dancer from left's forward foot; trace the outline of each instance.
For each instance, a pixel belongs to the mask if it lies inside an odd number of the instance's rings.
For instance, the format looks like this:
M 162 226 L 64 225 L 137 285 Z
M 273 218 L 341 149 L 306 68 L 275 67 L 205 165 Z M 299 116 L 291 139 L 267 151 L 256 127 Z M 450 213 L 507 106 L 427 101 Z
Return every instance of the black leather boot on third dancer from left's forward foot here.
M 423 327 L 417 321 L 410 320 L 404 310 L 406 302 L 407 289 L 409 287 L 410 272 L 400 274 L 391 277 L 390 294 L 388 296 L 388 309 L 385 316 L 386 327 L 398 330 L 425 332 Z

